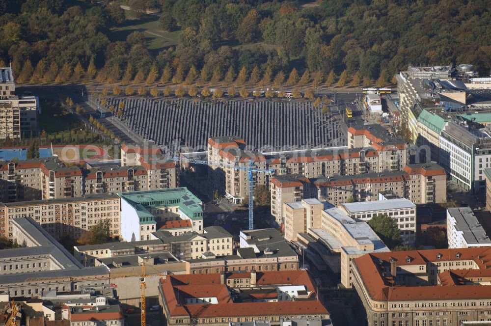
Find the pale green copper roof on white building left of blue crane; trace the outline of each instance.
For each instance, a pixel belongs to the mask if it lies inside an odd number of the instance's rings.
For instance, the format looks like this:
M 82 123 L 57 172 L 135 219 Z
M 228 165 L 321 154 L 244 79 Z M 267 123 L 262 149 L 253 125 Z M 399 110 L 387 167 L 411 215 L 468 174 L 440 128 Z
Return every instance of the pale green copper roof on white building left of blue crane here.
M 140 224 L 155 222 L 155 217 L 150 213 L 154 207 L 179 206 L 179 210 L 187 217 L 193 220 L 203 219 L 201 200 L 185 187 L 118 192 L 118 196 L 135 207 Z

